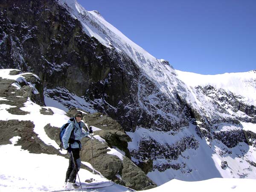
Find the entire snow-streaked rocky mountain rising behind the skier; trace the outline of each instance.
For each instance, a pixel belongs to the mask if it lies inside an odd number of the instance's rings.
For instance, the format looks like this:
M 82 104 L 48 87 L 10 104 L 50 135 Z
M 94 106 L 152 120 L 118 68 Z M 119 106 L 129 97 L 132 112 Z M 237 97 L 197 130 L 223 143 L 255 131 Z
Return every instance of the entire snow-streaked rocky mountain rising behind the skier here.
M 0 66 L 37 74 L 48 106 L 116 119 L 131 159 L 155 183 L 256 178 L 256 71 L 178 71 L 76 0 L 9 3 Z

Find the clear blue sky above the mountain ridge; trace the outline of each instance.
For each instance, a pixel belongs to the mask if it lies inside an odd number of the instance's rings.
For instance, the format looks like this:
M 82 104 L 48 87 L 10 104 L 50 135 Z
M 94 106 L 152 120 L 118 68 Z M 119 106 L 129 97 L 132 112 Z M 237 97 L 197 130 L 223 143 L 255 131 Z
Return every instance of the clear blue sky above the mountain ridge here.
M 177 70 L 256 70 L 256 0 L 78 0 Z

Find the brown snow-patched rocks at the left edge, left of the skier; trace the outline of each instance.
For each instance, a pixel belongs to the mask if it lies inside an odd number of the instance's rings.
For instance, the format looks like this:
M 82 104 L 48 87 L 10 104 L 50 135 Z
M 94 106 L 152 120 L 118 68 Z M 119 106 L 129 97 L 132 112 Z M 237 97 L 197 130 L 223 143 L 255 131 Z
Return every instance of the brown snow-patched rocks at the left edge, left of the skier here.
M 29 99 L 38 104 L 43 103 L 42 95 L 35 90 L 35 87 L 41 90 L 41 81 L 37 76 L 31 73 L 21 73 L 19 70 L 8 70 L 6 73 L 13 76 L 13 79 L 0 77 L 0 98 L 2 98 L 0 105 L 8 106 L 7 111 L 10 115 L 29 114 L 29 112 L 20 109 Z M 17 75 L 19 77 L 16 79 L 15 76 Z M 34 84 L 35 87 L 30 86 L 31 84 Z M 33 129 L 34 124 L 31 121 L 1 120 L 0 145 L 9 144 L 12 137 L 19 136 L 20 140 L 16 145 L 21 145 L 22 149 L 29 150 L 31 153 L 57 154 L 58 150 L 42 142 Z

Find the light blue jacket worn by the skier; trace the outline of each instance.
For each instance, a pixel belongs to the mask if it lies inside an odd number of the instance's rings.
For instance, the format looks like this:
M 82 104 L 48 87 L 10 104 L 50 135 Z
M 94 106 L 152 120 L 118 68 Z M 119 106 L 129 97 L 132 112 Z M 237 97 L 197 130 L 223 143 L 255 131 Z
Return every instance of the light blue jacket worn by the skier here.
M 74 119 L 74 121 L 71 121 L 71 120 L 73 120 L 73 118 L 68 120 L 68 123 L 70 124 L 67 126 L 66 131 L 62 137 L 63 147 L 65 149 L 69 147 L 68 140 L 70 139 L 70 135 L 73 130 L 73 127 L 75 127 L 74 129 L 75 140 L 81 140 L 83 137 L 86 137 L 89 135 L 89 132 L 82 130 L 82 128 L 85 127 L 85 124 L 83 122 L 80 123 L 80 127 L 79 127 L 79 124 L 78 122 L 76 122 L 76 119 Z M 82 147 L 78 142 L 74 142 L 73 144 L 70 144 L 70 145 L 71 145 L 71 148 Z

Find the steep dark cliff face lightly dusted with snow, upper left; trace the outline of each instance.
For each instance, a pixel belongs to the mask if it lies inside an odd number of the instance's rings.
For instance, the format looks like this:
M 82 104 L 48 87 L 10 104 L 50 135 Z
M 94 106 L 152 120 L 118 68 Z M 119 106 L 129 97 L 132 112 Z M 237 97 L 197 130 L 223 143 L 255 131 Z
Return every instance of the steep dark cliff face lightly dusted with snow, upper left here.
M 33 72 L 46 90 L 65 87 L 84 96 L 126 131 L 134 131 L 137 125 L 178 130 L 188 124 L 183 109 L 161 95 L 130 58 L 89 38 L 81 23 L 55 1 L 4 1 L 0 12 L 2 68 Z M 156 93 L 154 99 L 165 108 L 150 104 L 150 96 Z M 58 100 L 56 93 L 49 96 Z M 159 109 L 180 118 L 157 114 Z

